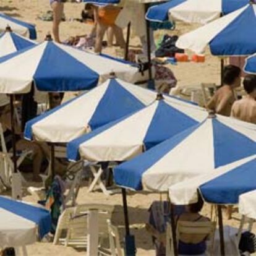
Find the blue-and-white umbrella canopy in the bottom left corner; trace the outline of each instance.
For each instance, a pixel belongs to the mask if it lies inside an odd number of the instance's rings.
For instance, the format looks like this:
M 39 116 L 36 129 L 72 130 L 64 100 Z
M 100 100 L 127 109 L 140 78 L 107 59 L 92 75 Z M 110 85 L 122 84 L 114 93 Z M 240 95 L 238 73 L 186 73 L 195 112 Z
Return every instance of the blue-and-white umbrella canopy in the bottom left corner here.
M 49 233 L 48 210 L 0 196 L 0 247 L 19 247 Z

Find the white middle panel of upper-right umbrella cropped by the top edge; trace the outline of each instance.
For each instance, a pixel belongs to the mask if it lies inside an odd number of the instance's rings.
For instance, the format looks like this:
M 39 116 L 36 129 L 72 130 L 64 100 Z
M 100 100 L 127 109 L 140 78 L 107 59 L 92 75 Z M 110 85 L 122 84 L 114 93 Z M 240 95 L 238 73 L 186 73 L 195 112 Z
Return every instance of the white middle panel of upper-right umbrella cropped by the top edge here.
M 220 17 L 221 0 L 189 0 L 169 10 L 170 18 L 187 23 L 207 23 Z

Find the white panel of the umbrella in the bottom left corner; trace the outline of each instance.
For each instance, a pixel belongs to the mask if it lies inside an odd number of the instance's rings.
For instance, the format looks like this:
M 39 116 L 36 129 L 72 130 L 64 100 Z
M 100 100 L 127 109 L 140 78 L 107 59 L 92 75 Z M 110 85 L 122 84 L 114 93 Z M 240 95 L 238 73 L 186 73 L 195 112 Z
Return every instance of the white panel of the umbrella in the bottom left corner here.
M 36 242 L 37 226 L 0 208 L 0 247 L 19 247 Z

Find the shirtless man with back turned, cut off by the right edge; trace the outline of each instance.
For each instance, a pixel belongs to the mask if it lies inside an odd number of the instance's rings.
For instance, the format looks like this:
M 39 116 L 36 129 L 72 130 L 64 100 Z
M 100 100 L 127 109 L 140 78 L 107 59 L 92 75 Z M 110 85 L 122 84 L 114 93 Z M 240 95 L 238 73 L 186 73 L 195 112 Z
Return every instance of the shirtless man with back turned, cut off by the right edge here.
M 247 95 L 234 103 L 231 116 L 256 124 L 256 75 L 246 75 L 244 90 Z

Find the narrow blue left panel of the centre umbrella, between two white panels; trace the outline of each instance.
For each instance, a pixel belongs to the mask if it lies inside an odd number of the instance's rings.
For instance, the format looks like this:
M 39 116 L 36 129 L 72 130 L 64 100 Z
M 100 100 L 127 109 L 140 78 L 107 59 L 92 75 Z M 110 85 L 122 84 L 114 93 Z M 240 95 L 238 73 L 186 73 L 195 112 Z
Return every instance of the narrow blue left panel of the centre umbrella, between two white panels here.
M 98 129 L 93 130 L 92 132 L 89 132 L 88 134 L 84 134 L 84 135 L 80 136 L 79 138 L 74 139 L 71 142 L 67 143 L 67 159 L 73 160 L 73 161 L 79 160 L 79 158 L 80 158 L 80 155 L 79 155 L 79 146 L 80 146 L 80 144 L 85 143 L 85 142 L 87 142 L 87 140 L 92 139 L 93 137 L 100 134 L 101 132 L 104 132 L 105 130 L 108 130 L 109 128 L 111 128 L 112 126 L 114 126 L 118 122 L 121 122 L 122 120 L 128 118 L 132 114 L 134 114 L 134 113 L 131 113 L 127 116 L 124 116 L 120 119 L 117 119 L 116 121 L 109 122 L 108 124 L 105 124 L 105 126 L 101 126 Z

